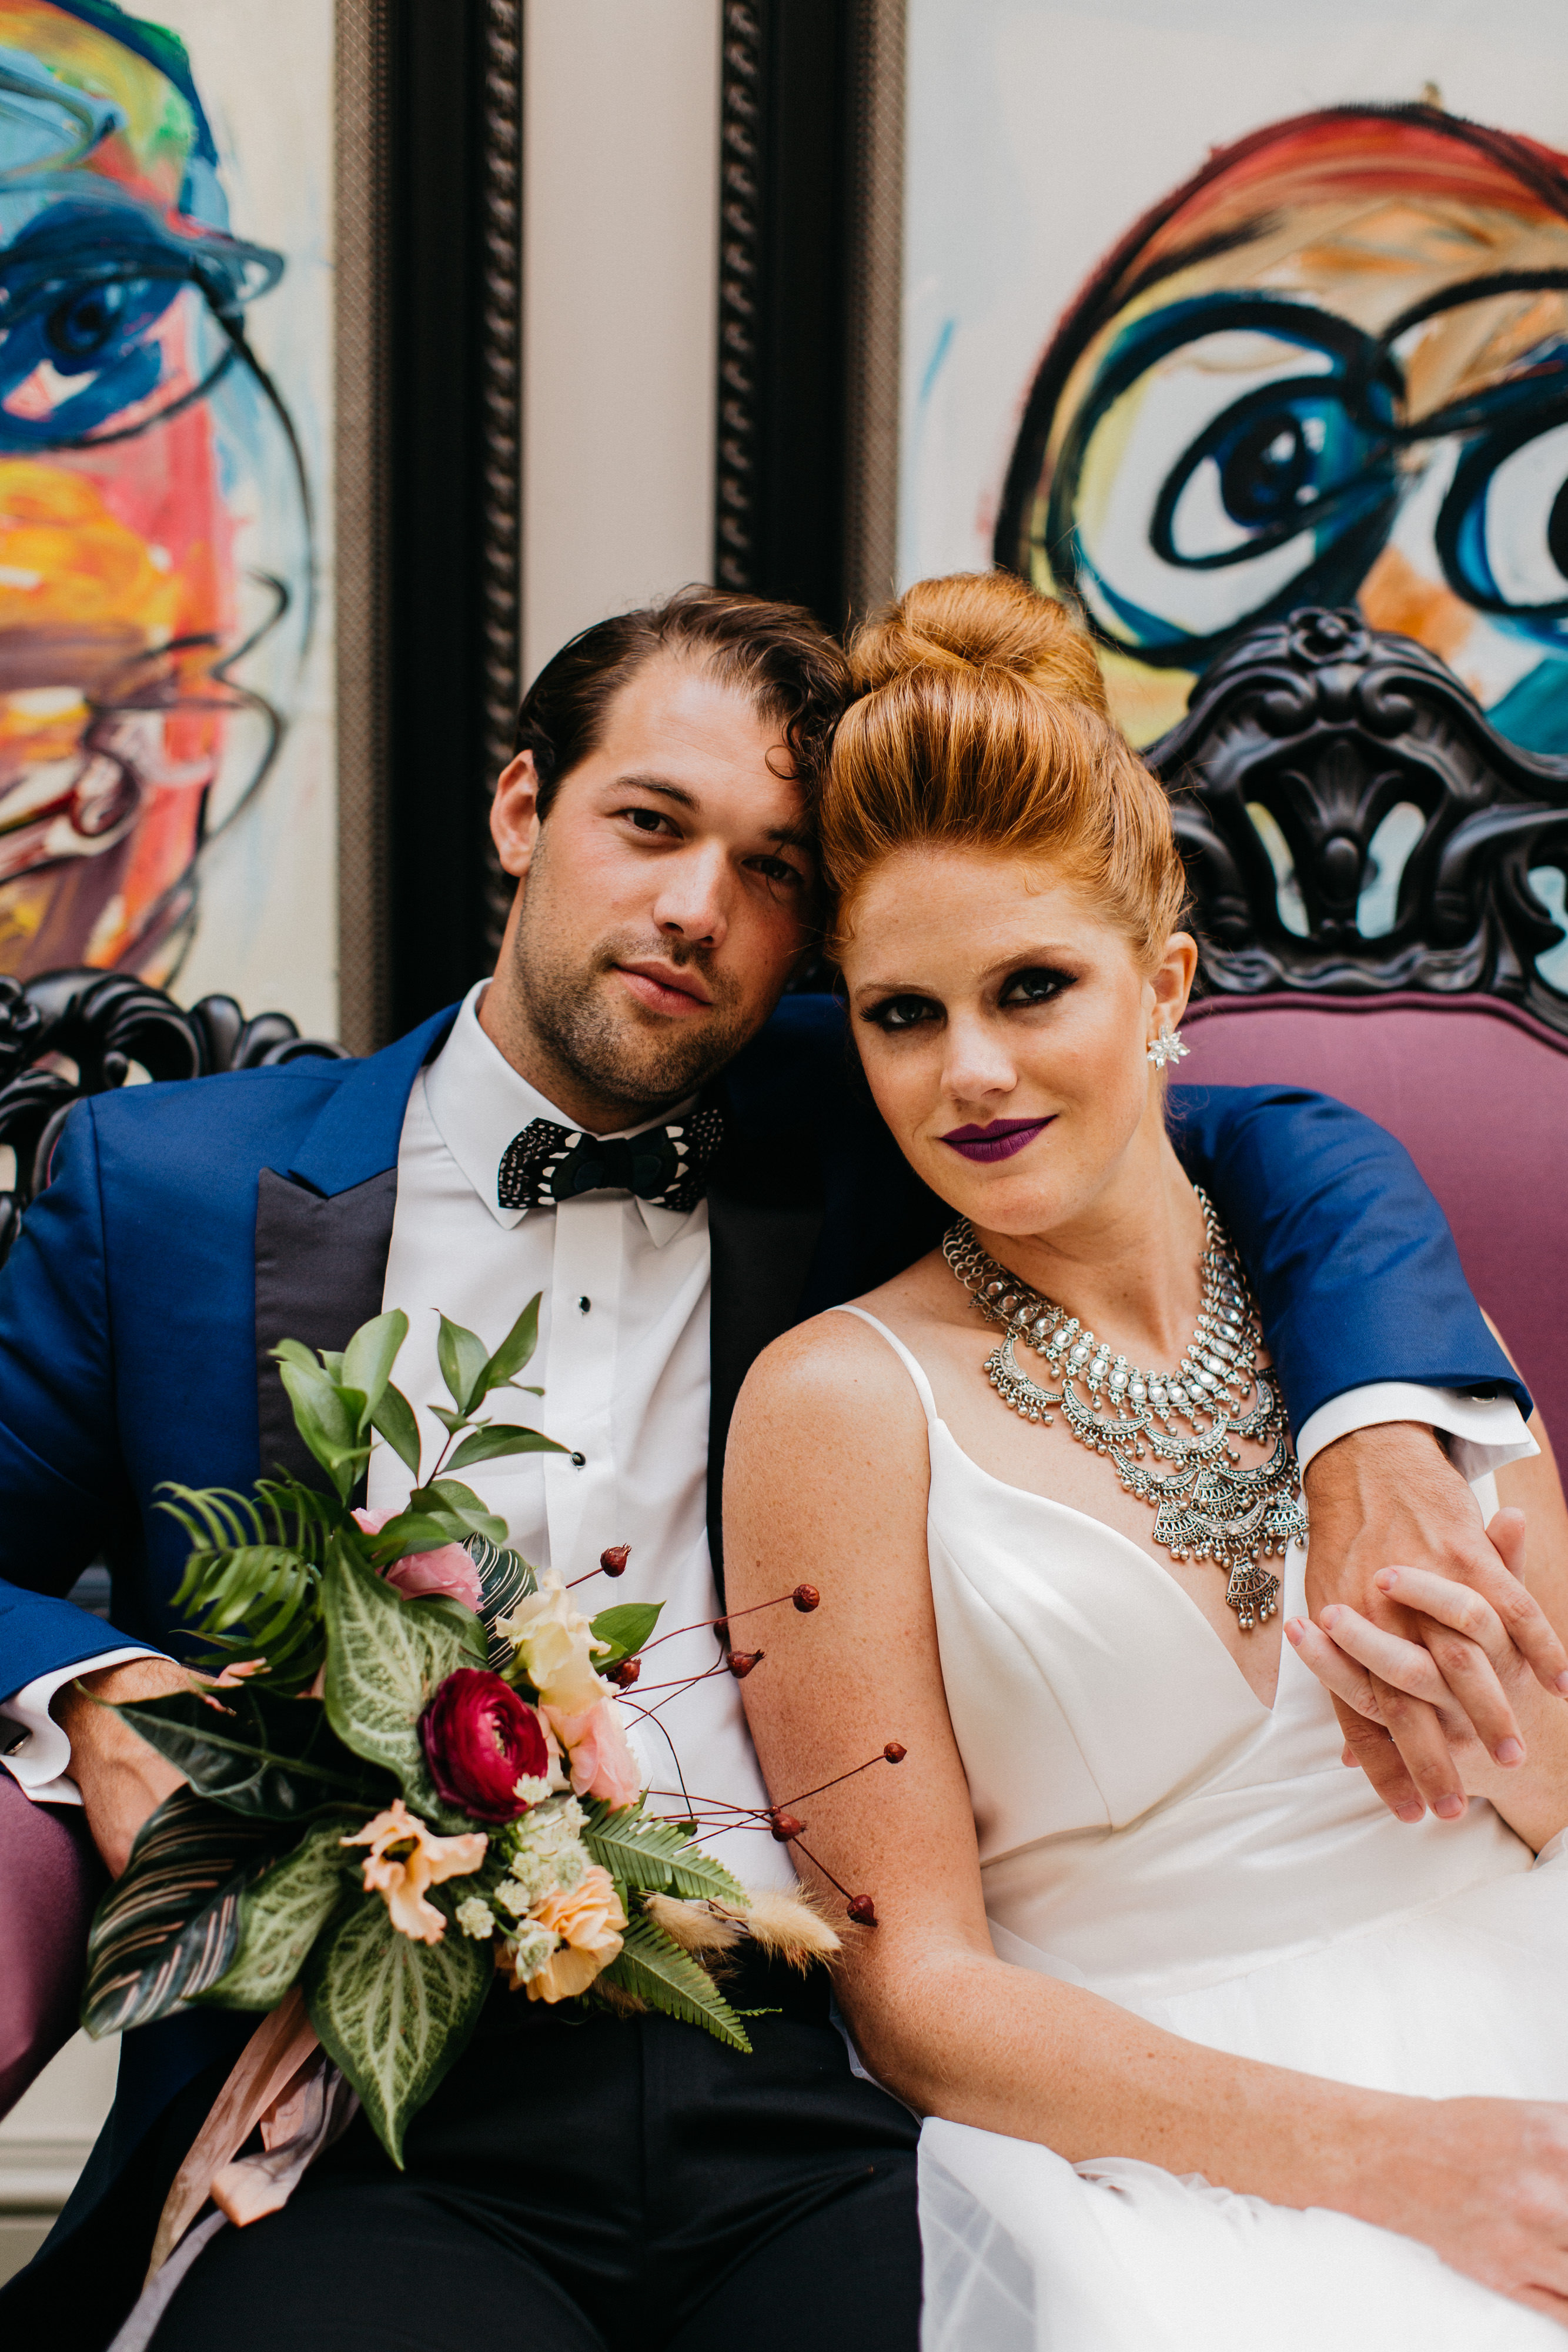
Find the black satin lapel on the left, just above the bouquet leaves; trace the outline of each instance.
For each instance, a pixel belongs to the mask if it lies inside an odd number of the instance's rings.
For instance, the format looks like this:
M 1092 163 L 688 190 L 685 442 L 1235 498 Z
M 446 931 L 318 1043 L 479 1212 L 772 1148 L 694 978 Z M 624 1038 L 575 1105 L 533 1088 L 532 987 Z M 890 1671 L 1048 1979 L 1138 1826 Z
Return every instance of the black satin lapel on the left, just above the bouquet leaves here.
M 383 1169 L 348 1192 L 322 1197 L 261 1169 L 256 1188 L 256 1418 L 261 1475 L 294 1470 L 320 1486 L 289 1397 L 268 1355 L 280 1338 L 306 1348 L 346 1348 L 362 1322 L 381 1312 L 386 1254 L 393 1247 L 397 1169 Z

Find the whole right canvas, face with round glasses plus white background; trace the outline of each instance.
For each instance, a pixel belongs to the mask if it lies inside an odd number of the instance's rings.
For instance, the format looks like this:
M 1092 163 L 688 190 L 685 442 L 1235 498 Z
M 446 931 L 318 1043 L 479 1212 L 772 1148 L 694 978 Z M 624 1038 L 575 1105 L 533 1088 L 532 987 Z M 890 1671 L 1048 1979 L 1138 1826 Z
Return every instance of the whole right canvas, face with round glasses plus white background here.
M 1559 0 L 912 0 L 900 576 L 1070 593 L 1138 743 L 1298 604 L 1568 753 Z

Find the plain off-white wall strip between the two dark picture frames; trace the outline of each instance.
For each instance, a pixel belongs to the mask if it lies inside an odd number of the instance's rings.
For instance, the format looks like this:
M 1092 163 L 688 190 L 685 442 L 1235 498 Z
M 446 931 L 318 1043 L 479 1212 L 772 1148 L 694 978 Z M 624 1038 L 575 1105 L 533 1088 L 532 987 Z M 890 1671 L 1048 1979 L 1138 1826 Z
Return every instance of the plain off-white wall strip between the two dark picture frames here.
M 527 0 L 524 677 L 712 576 L 719 0 Z

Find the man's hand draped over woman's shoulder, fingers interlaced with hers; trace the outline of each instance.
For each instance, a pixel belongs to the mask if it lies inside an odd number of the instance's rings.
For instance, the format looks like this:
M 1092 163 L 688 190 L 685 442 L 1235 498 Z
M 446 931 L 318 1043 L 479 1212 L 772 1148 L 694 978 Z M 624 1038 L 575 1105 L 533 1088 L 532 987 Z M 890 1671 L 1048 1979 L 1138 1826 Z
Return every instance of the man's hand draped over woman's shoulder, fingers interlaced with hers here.
M 1425 1642 L 1458 1712 L 1488 1755 L 1502 1766 L 1521 1764 L 1519 1724 L 1483 1651 L 1448 1625 L 1399 1609 L 1373 1583 L 1378 1569 L 1408 1566 L 1469 1585 L 1497 1611 L 1542 1689 L 1568 1693 L 1568 1651 L 1540 1604 L 1509 1576 L 1486 1536 L 1474 1494 L 1434 1432 L 1413 1421 L 1352 1430 L 1324 1446 L 1305 1486 L 1312 1522 L 1309 1613 L 1316 1618 L 1331 1602 L 1347 1602 L 1373 1625 Z M 1361 1766 L 1401 1820 L 1420 1820 L 1427 1806 L 1441 1820 L 1455 1820 L 1465 1811 L 1465 1790 L 1436 1708 L 1375 1677 L 1373 1691 L 1380 1722 L 1368 1722 L 1342 1698 L 1333 1703 L 1347 1759 Z

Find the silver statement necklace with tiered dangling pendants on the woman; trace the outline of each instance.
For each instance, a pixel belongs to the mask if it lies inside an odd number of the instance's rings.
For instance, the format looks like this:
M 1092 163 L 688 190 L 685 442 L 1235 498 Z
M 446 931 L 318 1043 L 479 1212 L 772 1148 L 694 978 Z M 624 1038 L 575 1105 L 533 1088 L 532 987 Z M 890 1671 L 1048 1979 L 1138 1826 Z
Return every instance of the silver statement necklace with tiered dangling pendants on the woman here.
M 1253 1294 L 1213 1202 L 1201 1190 L 1197 1197 L 1204 1305 L 1175 1371 L 1138 1371 L 1124 1355 L 1112 1357 L 1077 1315 L 980 1249 L 966 1216 L 947 1232 L 943 1256 L 980 1312 L 1006 1331 L 985 1359 L 1001 1402 L 1044 1425 L 1058 1404 L 1079 1444 L 1107 1454 L 1126 1491 L 1154 1505 L 1154 1543 L 1173 1559 L 1213 1559 L 1227 1571 L 1225 1599 L 1251 1632 L 1279 1606 L 1279 1578 L 1262 1562 L 1284 1559 L 1295 1538 L 1305 1541 L 1307 1505 L 1279 1376 L 1258 1362 L 1262 1327 Z M 1060 1388 L 1041 1388 L 1018 1369 L 1020 1341 L 1044 1357 Z M 1244 1470 L 1232 1439 L 1269 1435 L 1272 1456 Z

